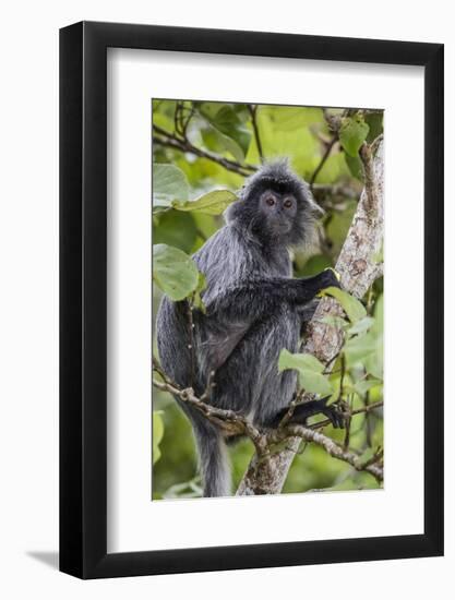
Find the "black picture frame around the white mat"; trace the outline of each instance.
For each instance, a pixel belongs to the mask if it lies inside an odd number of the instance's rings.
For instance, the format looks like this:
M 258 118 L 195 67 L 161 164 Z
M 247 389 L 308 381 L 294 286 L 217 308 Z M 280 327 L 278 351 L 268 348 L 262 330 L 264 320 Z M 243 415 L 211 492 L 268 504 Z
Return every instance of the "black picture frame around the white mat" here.
M 107 48 L 424 68 L 424 532 L 107 553 Z M 60 569 L 81 578 L 443 554 L 441 44 L 81 22 L 60 31 Z M 405 175 L 404 175 L 405 176 Z

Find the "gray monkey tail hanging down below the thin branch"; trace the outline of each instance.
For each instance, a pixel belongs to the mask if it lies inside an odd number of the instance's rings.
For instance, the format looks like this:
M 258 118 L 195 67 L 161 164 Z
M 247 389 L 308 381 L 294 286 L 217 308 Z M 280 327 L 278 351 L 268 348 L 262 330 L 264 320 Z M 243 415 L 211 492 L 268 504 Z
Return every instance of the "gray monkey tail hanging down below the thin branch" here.
M 228 496 L 231 493 L 230 467 L 223 435 L 212 423 L 194 424 L 204 496 Z

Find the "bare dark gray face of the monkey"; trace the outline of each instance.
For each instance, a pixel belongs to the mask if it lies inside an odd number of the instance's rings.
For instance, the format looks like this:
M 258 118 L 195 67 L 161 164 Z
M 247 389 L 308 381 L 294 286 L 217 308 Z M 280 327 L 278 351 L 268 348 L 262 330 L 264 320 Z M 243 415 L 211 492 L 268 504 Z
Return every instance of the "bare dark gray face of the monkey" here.
M 265 190 L 259 197 L 259 209 L 270 235 L 274 238 L 289 236 L 298 212 L 297 200 L 291 193 Z

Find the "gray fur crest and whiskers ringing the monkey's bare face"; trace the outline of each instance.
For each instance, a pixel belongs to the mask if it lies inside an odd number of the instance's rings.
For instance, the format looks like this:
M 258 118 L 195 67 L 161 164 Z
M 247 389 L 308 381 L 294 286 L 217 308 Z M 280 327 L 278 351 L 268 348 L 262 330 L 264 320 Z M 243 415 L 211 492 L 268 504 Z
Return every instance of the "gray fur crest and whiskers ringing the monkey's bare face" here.
M 271 232 L 267 219 L 261 212 L 261 197 L 271 191 L 282 197 L 286 194 L 296 200 L 296 212 L 289 220 L 289 230 Z M 315 220 L 323 214 L 314 202 L 310 187 L 289 167 L 287 158 L 265 164 L 244 182 L 239 200 L 225 213 L 226 223 L 262 243 L 275 241 L 287 247 L 311 245 L 314 243 Z

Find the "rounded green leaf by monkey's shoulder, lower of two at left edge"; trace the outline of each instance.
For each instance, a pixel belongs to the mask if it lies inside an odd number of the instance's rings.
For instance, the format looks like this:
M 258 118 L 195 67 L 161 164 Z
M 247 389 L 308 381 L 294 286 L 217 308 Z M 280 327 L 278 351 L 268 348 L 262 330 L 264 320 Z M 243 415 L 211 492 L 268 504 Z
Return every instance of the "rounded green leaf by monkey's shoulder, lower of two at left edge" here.
M 171 245 L 153 247 L 153 279 L 175 301 L 183 300 L 199 284 L 199 272 L 192 259 Z

